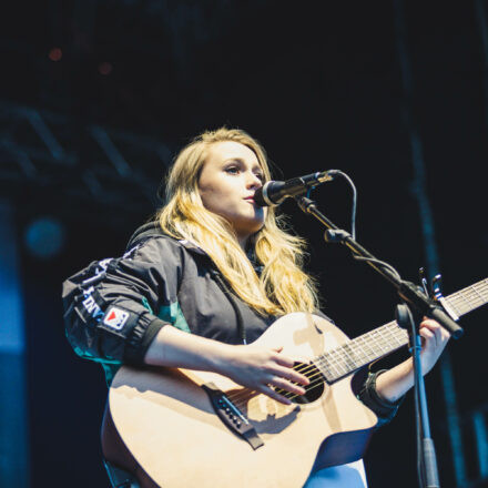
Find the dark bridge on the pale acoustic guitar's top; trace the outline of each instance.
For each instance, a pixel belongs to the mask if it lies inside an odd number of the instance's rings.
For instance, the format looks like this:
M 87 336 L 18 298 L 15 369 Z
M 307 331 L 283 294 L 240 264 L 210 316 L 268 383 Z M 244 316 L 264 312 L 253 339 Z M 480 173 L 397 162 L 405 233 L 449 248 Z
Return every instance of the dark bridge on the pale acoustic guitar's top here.
M 223 392 L 213 383 L 206 383 L 202 388 L 209 395 L 215 414 L 230 430 L 246 440 L 254 450 L 264 446 L 254 426 Z

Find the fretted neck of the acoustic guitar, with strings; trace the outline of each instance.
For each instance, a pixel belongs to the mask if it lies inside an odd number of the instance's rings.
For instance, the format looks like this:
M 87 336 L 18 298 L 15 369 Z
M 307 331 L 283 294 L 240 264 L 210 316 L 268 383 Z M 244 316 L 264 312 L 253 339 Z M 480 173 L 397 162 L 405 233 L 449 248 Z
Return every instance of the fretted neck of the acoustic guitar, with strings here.
M 488 278 L 446 297 L 460 317 L 488 303 Z M 376 359 L 408 344 L 408 333 L 396 321 L 356 337 L 314 359 L 328 384 L 333 384 Z

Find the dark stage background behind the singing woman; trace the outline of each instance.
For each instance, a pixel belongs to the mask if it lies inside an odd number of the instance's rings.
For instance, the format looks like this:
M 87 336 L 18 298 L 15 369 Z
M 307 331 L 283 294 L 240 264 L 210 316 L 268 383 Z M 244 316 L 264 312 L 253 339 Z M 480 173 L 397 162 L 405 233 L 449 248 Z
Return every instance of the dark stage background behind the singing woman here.
M 404 277 L 440 271 L 446 294 L 486 277 L 486 1 L 40 0 L 2 11 L 0 199 L 24 303 L 30 486 L 109 486 L 106 387 L 64 338 L 61 283 L 123 253 L 172 156 L 202 130 L 248 131 L 278 180 L 345 171 L 358 189 L 357 240 Z M 345 182 L 315 196 L 349 225 Z M 389 285 L 326 245 L 293 202 L 282 210 L 309 240 L 324 312 L 350 337 L 389 322 Z M 40 258 L 26 235 L 45 216 L 64 241 Z M 488 486 L 488 460 L 477 461 L 480 446 L 488 459 L 487 314 L 464 317 L 465 336 L 448 346 L 457 417 L 447 417 L 440 366 L 426 379 L 444 487 Z M 462 449 L 451 448 L 453 418 Z M 414 434 L 410 393 L 370 444 L 372 487 L 416 486 Z

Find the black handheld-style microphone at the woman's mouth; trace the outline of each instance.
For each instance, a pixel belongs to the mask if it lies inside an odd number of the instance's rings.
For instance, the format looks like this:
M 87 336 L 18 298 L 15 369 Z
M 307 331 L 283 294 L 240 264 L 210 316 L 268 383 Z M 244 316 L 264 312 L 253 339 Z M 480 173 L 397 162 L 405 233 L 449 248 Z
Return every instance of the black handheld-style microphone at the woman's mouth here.
M 308 189 L 334 180 L 337 173 L 338 170 L 328 170 L 286 181 L 268 181 L 256 190 L 254 193 L 254 202 L 260 206 L 279 205 L 289 196 L 301 195 L 302 193 L 306 193 Z

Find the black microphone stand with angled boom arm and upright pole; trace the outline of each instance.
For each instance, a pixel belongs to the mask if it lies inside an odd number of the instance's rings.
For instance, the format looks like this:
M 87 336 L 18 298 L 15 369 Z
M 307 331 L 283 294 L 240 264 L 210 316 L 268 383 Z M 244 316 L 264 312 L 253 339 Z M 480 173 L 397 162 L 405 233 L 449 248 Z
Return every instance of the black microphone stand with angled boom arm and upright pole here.
M 415 376 L 419 482 L 421 487 L 439 487 L 436 454 L 434 441 L 430 438 L 425 384 L 419 359 L 420 336 L 411 317 L 410 308 L 417 311 L 421 315 L 437 321 L 456 339 L 464 334 L 462 328 L 448 315 L 449 311 L 447 308 L 444 309 L 439 303 L 425 295 L 421 288 L 416 286 L 414 283 L 403 279 L 399 273 L 392 265 L 377 260 L 358 242 L 356 242 L 348 232 L 337 227 L 333 222 L 331 222 L 317 209 L 317 205 L 313 200 L 303 195 L 296 195 L 294 196 L 294 200 L 297 202 L 299 209 L 304 213 L 313 215 L 327 228 L 324 235 L 326 242 L 339 243 L 347 246 L 352 251 L 355 260 L 364 261 L 384 278 L 386 278 L 397 289 L 400 299 L 406 304 L 398 306 L 397 318 L 398 324 L 404 326 L 404 328 L 408 329 L 409 326 L 411 327 L 409 335 Z M 424 437 L 421 437 L 421 435 Z

